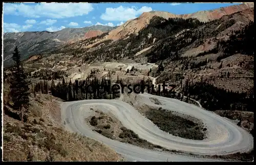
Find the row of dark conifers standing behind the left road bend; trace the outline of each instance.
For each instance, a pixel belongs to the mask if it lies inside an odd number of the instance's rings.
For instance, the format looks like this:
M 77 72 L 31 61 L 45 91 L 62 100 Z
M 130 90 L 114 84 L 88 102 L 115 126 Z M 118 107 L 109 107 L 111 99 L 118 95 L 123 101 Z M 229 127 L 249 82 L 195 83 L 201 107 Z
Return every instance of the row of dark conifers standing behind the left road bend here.
M 112 89 L 113 84 L 111 83 L 111 79 L 104 79 L 102 77 L 101 80 L 99 80 L 94 76 L 89 77 L 90 78 L 85 80 L 75 80 L 74 82 L 72 82 L 71 79 L 67 82 L 65 78 L 62 78 L 62 82 L 58 81 L 56 85 L 54 80 L 51 81 L 51 85 L 48 84 L 48 81 L 41 80 L 35 84 L 33 91 L 42 94 L 51 92 L 53 96 L 65 101 L 115 99 L 120 97 L 120 94 L 115 93 L 115 89 Z

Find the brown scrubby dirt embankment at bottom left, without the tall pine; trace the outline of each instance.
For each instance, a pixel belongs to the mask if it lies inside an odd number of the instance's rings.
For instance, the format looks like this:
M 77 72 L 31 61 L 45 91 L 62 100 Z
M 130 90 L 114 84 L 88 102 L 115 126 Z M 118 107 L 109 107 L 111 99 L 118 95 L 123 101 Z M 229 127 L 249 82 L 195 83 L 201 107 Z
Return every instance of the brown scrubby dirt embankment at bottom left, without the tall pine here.
M 30 99 L 27 123 L 17 120 L 5 101 L 4 161 L 121 160 L 119 154 L 100 142 L 64 130 L 58 98 L 38 95 Z

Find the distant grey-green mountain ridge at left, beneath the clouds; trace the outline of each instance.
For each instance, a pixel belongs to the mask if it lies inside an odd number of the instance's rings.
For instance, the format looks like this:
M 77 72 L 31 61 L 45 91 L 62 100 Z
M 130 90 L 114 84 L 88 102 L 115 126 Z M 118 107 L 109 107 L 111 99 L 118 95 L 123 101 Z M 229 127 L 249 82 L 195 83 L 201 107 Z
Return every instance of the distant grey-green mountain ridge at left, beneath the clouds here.
M 65 42 L 74 42 L 84 38 L 89 31 L 107 32 L 115 27 L 104 25 L 93 25 L 85 28 L 65 28 L 57 32 L 20 32 L 4 34 L 4 65 L 12 64 L 11 56 L 15 45 L 18 45 L 19 51 L 23 54 L 22 60 L 31 55 L 43 52 L 47 49 L 60 45 Z M 101 34 L 101 33 L 97 33 Z M 89 36 L 95 36 L 89 35 Z

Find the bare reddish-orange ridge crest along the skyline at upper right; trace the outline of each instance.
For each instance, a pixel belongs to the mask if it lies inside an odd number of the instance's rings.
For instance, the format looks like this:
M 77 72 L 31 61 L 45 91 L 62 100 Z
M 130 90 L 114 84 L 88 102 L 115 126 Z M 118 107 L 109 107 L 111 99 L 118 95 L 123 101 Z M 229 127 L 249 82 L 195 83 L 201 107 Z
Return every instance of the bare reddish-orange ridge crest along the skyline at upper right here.
M 151 12 L 146 12 L 142 13 L 138 18 L 128 20 L 118 28 L 112 30 L 106 38 L 108 39 L 113 39 L 113 40 L 118 40 L 120 38 L 125 38 L 127 35 L 130 34 L 136 34 L 138 33 L 141 29 L 143 29 L 153 18 L 154 16 L 160 16 L 165 19 L 168 18 L 197 18 L 200 21 L 210 21 L 214 19 L 221 18 L 223 15 L 229 15 L 232 13 L 236 13 L 248 8 L 253 8 L 254 3 L 243 3 L 241 5 L 233 5 L 233 6 L 228 6 L 225 8 L 219 8 L 216 10 L 209 10 L 209 11 L 199 11 L 196 13 L 191 13 L 191 14 L 182 14 L 182 15 L 176 15 L 168 12 L 162 12 L 162 11 L 151 11 Z

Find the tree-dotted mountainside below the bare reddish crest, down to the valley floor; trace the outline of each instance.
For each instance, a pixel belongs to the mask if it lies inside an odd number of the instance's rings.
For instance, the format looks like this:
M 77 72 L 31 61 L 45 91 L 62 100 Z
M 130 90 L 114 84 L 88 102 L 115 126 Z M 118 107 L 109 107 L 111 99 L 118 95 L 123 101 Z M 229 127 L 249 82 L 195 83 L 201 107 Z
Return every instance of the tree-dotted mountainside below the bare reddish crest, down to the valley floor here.
M 208 22 L 200 22 L 194 18 L 167 20 L 154 16 L 137 35 L 131 34 L 119 40 L 106 39 L 115 29 L 76 43 L 62 44 L 52 51 L 32 57 L 26 67 L 62 70 L 67 73 L 68 79 L 76 79 L 87 77 L 90 73 L 89 64 L 118 62 L 113 69 L 119 70 L 120 66 L 122 72 L 118 73 L 119 77 L 122 75 L 125 78 L 128 73 L 124 75 L 123 71 L 127 68 L 131 70 L 132 65 L 159 65 L 162 62 L 164 71 L 148 73 L 150 70 L 147 67 L 138 74 L 156 77 L 157 83 L 165 80 L 177 85 L 180 84 L 180 79 L 176 74 L 183 74 L 179 75 L 182 83 L 188 78 L 194 82 L 204 79 L 218 88 L 248 92 L 253 87 L 253 19 L 253 8 Z M 120 64 L 127 62 L 135 64 Z M 125 69 L 122 66 L 127 67 Z M 108 73 L 105 72 L 102 70 L 99 75 Z M 131 73 L 139 77 L 138 74 Z

